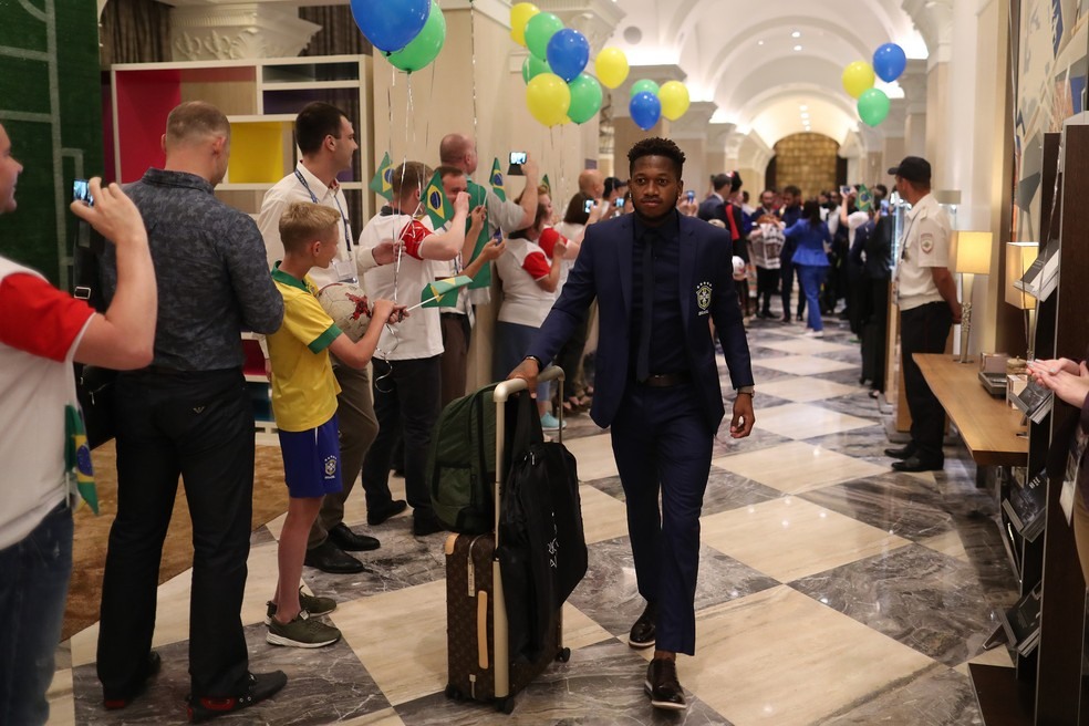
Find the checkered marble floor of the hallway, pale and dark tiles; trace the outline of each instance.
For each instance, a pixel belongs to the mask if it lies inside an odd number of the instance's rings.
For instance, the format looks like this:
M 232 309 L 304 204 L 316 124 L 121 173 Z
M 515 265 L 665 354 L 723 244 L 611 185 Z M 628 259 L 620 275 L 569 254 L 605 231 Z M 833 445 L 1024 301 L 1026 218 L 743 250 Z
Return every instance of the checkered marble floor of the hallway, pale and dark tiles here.
M 995 612 L 1015 598 L 993 517 L 963 448 L 942 473 L 893 473 L 878 402 L 858 384 L 846 324 L 823 340 L 800 323 L 753 321 L 757 429 L 720 434 L 704 502 L 697 653 L 682 656 L 689 707 L 655 713 L 642 693 L 645 657 L 624 636 L 642 610 L 623 492 L 609 434 L 585 416 L 567 443 L 579 461 L 590 572 L 564 608 L 569 663 L 517 698 L 514 715 L 448 702 L 444 536 L 414 538 L 398 517 L 374 528 L 366 572 L 303 573 L 339 608 L 344 633 L 321 651 L 265 643 L 281 520 L 253 535 L 242 610 L 253 671 L 282 668 L 272 701 L 238 724 L 979 724 L 967 663 L 984 652 Z M 724 381 L 725 367 L 723 366 Z M 727 386 L 728 387 L 728 386 Z M 728 419 L 727 419 L 728 425 Z M 362 497 L 348 521 L 365 522 Z M 366 530 L 365 526 L 361 529 Z M 188 573 L 159 588 L 155 647 L 164 667 L 129 708 L 102 709 L 97 628 L 62 644 L 55 724 L 184 723 Z

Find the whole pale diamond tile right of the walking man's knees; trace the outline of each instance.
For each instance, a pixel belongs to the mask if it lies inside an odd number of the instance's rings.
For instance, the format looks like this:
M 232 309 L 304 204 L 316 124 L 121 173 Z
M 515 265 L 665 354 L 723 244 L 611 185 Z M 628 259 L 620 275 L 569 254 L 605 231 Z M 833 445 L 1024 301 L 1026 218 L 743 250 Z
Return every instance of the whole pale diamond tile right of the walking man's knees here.
M 798 497 L 704 517 L 701 540 L 779 582 L 910 544 Z

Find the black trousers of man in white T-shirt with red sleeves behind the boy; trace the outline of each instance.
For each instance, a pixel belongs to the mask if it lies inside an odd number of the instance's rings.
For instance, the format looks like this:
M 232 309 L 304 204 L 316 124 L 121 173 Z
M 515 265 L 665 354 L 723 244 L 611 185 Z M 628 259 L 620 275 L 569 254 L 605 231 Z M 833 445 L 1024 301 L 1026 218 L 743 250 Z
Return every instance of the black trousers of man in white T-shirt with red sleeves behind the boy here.
M 439 356 L 407 361 L 372 360 L 371 386 L 378 435 L 363 458 L 363 490 L 366 508 L 388 505 L 390 464 L 397 442 L 405 447 L 405 497 L 414 514 L 433 514 L 425 479 L 427 449 L 438 421 L 442 397 Z

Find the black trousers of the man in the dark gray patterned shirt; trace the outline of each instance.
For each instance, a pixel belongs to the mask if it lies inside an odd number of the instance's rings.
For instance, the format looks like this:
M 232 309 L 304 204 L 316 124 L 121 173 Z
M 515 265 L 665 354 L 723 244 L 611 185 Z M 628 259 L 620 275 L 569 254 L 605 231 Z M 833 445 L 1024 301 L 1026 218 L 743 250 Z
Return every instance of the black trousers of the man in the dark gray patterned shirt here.
M 98 680 L 115 695 L 143 680 L 180 476 L 193 520 L 193 695 L 235 695 L 249 670 L 240 612 L 253 500 L 253 412 L 241 369 L 122 374 L 115 403 L 117 518 L 102 583 Z

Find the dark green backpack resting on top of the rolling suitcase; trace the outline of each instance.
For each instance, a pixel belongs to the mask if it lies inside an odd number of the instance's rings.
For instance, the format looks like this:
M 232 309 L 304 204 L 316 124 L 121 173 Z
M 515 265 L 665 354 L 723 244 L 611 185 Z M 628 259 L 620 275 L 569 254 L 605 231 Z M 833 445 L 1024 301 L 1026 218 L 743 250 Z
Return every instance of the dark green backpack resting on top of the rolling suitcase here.
M 427 453 L 435 515 L 464 535 L 483 535 L 495 527 L 496 404 L 491 394 L 496 385 L 452 401 L 435 424 Z

